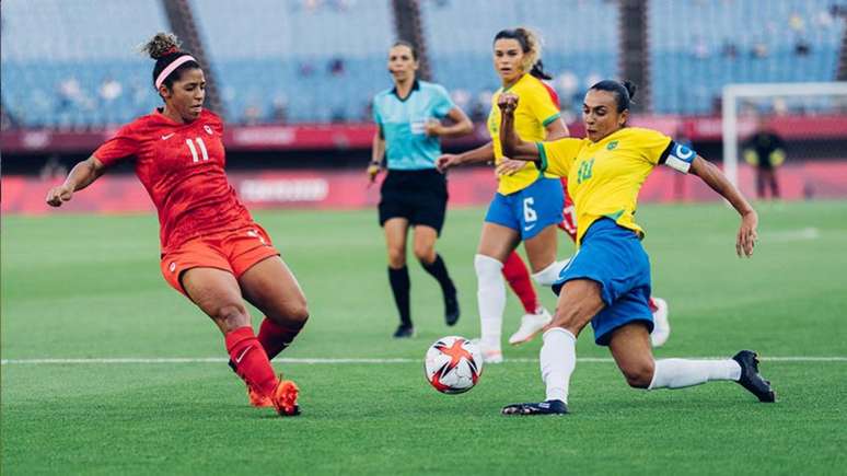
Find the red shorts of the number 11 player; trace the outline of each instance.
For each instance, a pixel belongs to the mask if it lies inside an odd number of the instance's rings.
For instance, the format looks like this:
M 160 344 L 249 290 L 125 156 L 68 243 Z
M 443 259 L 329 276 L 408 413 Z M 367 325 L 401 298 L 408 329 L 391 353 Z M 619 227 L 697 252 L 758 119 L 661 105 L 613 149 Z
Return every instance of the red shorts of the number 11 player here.
M 218 268 L 239 279 L 256 263 L 277 255 L 268 233 L 254 223 L 189 240 L 162 256 L 161 268 L 165 281 L 187 297 L 181 277 L 188 269 Z

